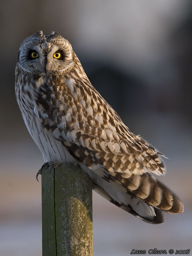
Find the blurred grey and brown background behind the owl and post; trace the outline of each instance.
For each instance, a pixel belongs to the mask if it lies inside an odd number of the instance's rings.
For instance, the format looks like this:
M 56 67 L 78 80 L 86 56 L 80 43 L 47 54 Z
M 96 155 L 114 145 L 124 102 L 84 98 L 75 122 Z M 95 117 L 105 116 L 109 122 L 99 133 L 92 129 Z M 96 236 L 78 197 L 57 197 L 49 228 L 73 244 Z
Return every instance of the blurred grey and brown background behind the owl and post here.
M 41 255 L 42 156 L 14 92 L 21 42 L 38 30 L 68 39 L 94 87 L 135 134 L 163 152 L 160 177 L 183 214 L 152 225 L 93 193 L 94 256 L 192 250 L 192 1 L 18 0 L 0 6 L 0 255 Z M 148 255 L 148 254 L 146 254 Z

